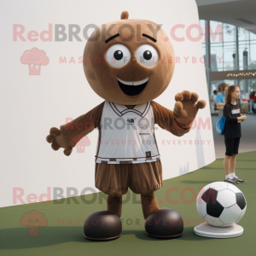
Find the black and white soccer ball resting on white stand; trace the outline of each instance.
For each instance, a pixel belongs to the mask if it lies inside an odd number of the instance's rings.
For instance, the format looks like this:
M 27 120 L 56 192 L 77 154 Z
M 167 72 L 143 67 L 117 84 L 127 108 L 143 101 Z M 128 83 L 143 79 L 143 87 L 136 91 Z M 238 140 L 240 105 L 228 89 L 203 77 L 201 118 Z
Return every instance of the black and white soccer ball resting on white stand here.
M 247 209 L 247 201 L 236 186 L 216 182 L 201 189 L 197 195 L 196 209 L 207 224 L 228 227 L 241 220 Z

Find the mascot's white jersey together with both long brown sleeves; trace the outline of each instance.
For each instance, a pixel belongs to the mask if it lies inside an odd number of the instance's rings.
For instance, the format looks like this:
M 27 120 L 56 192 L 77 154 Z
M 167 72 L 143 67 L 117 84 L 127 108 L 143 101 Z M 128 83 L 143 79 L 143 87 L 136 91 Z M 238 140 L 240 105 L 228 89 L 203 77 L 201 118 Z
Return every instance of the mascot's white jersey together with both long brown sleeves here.
M 74 147 L 78 138 L 98 128 L 96 163 L 138 164 L 160 160 L 154 124 L 177 136 L 190 130 L 177 122 L 172 110 L 156 102 L 125 106 L 105 101 L 61 125 L 61 134 Z

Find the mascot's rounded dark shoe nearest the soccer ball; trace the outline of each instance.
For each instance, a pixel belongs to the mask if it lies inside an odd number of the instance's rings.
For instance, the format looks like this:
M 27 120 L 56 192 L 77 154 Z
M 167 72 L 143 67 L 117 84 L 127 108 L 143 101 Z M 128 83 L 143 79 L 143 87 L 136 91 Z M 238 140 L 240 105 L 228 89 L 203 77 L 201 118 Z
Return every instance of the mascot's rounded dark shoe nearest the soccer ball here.
M 172 238 L 183 235 L 183 218 L 178 212 L 162 208 L 152 212 L 145 222 L 148 236 Z

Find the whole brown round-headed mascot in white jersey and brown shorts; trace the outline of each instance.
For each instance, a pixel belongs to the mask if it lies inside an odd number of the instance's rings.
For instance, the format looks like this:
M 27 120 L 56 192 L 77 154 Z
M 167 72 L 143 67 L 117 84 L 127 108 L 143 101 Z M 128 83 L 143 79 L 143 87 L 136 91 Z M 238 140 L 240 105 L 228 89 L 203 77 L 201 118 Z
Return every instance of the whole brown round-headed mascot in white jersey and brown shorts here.
M 122 195 L 128 187 L 141 195 L 149 236 L 183 233 L 180 215 L 169 208 L 160 209 L 154 196 L 163 185 L 154 124 L 181 137 L 189 132 L 199 108 L 207 104 L 188 90 L 175 95 L 173 111 L 153 101 L 171 82 L 174 50 L 159 25 L 128 20 L 128 16 L 124 11 L 120 20 L 97 28 L 84 48 L 85 77 L 104 102 L 61 125 L 60 130 L 51 128 L 46 137 L 51 148 L 64 148 L 68 156 L 82 137 L 96 128 L 99 131 L 95 186 L 108 199 L 107 211 L 93 212 L 84 221 L 84 236 L 93 240 L 120 236 Z

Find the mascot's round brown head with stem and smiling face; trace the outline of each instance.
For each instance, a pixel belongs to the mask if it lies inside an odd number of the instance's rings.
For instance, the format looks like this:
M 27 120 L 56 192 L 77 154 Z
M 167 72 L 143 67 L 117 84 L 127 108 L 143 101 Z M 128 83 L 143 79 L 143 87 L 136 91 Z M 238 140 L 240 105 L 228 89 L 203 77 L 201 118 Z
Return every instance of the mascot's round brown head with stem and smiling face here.
M 137 105 L 166 90 L 174 71 L 174 51 L 159 25 L 149 20 L 103 24 L 84 49 L 84 73 L 91 88 L 108 102 Z M 173 63 L 172 63 L 173 62 Z

